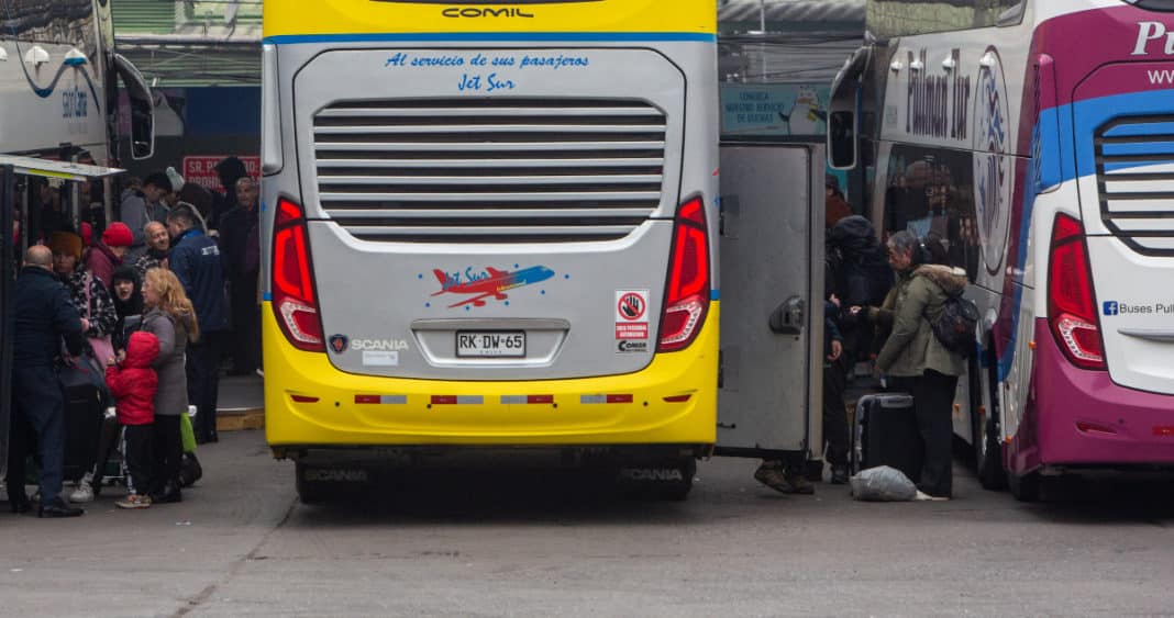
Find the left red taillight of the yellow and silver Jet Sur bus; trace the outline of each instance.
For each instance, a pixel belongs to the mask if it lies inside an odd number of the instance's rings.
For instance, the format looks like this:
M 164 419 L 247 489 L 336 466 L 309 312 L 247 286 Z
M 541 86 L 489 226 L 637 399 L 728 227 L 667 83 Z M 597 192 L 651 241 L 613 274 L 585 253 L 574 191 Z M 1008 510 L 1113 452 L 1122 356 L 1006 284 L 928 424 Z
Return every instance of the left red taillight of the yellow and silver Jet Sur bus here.
M 312 272 L 302 206 L 278 199 L 274 222 L 274 313 L 294 347 L 325 352 Z

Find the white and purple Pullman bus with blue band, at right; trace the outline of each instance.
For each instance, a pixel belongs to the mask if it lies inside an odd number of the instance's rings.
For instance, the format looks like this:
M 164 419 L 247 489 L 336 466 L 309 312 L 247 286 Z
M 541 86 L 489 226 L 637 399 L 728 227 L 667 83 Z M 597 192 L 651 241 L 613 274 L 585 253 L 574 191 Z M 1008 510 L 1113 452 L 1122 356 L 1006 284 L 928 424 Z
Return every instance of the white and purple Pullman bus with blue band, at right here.
M 1174 2 L 869 0 L 868 28 L 831 162 L 973 284 L 954 425 L 984 484 L 1174 464 Z

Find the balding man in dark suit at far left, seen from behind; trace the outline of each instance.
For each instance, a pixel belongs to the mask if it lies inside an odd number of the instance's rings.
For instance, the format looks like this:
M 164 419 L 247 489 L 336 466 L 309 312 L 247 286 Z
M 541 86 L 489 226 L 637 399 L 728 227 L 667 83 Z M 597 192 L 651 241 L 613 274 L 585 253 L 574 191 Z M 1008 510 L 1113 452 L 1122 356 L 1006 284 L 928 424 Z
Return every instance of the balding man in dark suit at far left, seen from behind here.
M 8 449 L 8 504 L 29 509 L 25 495 L 25 457 L 35 433 L 41 455 L 41 517 L 75 517 L 81 509 L 61 498 L 65 467 L 65 401 L 53 368 L 62 338 L 70 355 L 81 353 L 82 324 L 69 291 L 53 276 L 46 246 L 25 252 L 13 307 L 13 409 Z

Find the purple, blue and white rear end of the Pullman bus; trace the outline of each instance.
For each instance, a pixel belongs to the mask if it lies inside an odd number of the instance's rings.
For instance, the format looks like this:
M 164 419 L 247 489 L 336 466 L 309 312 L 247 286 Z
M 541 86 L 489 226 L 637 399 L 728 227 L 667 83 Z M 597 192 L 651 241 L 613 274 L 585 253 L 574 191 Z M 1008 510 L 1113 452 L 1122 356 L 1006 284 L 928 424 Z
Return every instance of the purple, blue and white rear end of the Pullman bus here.
M 1041 82 L 1055 83 L 1043 107 L 1059 103 L 1041 115 L 1035 168 L 1039 184 L 1059 184 L 1035 205 L 1046 271 L 1008 453 L 1016 483 L 1040 469 L 1174 466 L 1174 6 L 1101 5 L 1035 34 Z M 1100 42 L 1070 45 L 1080 40 Z

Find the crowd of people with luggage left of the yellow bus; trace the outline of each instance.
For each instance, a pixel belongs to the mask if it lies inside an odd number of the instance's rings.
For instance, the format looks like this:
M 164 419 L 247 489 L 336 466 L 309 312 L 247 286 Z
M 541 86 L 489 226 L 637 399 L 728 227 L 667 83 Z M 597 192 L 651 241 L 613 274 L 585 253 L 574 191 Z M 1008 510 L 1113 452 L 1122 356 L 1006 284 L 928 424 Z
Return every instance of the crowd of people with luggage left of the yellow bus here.
M 181 464 L 194 461 L 182 440 L 189 406 L 195 442 L 216 442 L 222 367 L 261 373 L 257 184 L 236 157 L 216 169 L 223 193 L 184 183 L 169 168 L 130 179 L 117 220 L 82 220 L 77 229 L 65 216 L 60 186 L 40 186 L 39 229 L 21 256 L 14 292 L 6 476 L 14 512 L 32 508 L 23 489 L 26 459 L 34 456 L 39 515 L 81 515 L 74 503 L 100 493 L 120 434 L 128 494 L 116 504 L 180 502 Z M 93 374 L 115 408 L 93 436 L 92 463 L 68 500 L 62 366 Z

